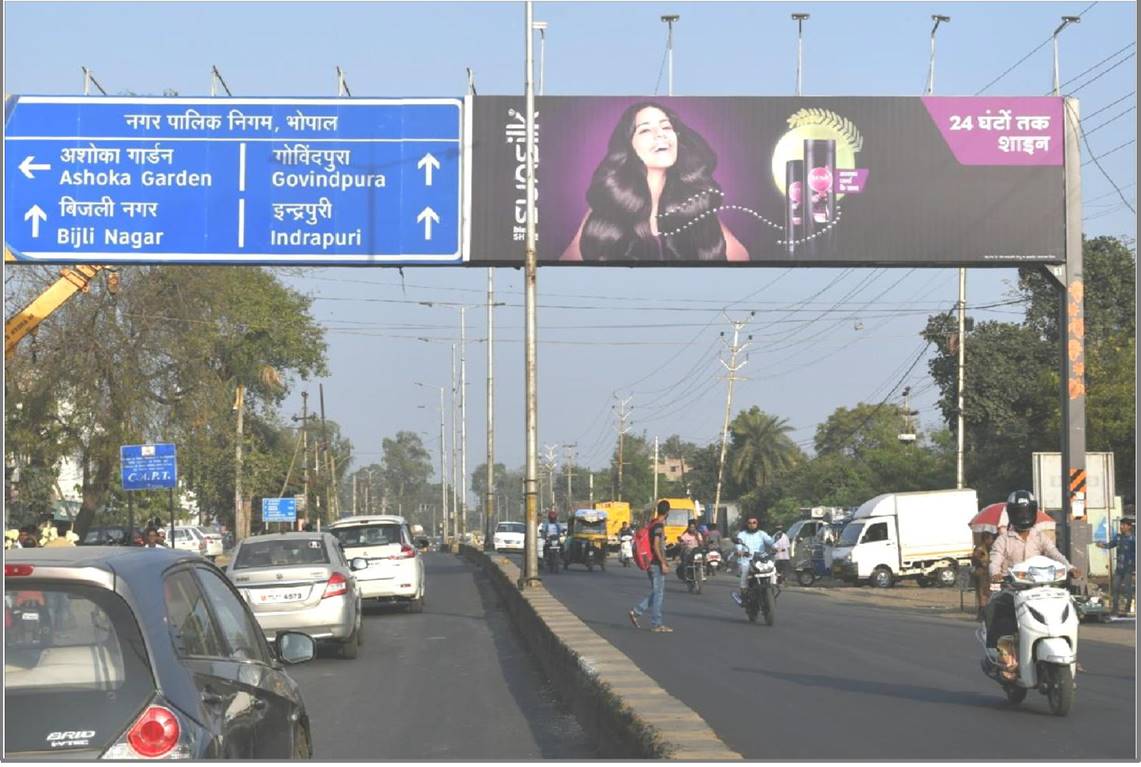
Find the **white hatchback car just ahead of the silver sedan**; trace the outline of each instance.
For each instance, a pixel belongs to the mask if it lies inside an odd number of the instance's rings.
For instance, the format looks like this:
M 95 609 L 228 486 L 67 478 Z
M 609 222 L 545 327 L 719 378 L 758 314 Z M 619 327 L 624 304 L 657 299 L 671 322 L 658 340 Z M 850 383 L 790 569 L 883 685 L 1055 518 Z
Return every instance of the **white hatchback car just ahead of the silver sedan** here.
M 354 573 L 363 599 L 399 602 L 408 612 L 423 611 L 423 557 L 412 544 L 404 517 L 346 517 L 325 530 L 340 542 L 346 558 L 369 560 L 366 568 Z

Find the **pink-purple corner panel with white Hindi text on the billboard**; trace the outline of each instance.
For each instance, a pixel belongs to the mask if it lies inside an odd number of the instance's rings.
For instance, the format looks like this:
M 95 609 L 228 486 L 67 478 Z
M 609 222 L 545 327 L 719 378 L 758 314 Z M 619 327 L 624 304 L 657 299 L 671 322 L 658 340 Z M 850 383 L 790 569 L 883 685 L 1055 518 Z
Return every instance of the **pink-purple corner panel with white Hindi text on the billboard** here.
M 964 165 L 1061 165 L 1060 97 L 924 96 L 923 106 Z

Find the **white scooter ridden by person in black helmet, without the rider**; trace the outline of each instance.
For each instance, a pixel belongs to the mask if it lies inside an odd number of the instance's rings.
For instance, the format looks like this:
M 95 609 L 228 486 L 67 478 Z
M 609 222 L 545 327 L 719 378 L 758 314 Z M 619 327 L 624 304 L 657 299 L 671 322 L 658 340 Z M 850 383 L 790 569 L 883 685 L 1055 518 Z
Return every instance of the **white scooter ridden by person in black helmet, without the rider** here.
M 982 644 L 982 672 L 998 683 L 1006 700 L 1021 703 L 1027 692 L 1037 689 L 1059 717 L 1074 704 L 1077 667 L 1077 607 L 1069 591 L 1058 587 L 1065 583 L 1066 573 L 1066 565 L 1041 556 L 1010 568 L 1003 589 L 1013 595 L 1018 630 L 998 641 L 1017 648 L 1017 676 L 1003 675 L 997 651 L 986 646 L 986 627 L 976 635 Z

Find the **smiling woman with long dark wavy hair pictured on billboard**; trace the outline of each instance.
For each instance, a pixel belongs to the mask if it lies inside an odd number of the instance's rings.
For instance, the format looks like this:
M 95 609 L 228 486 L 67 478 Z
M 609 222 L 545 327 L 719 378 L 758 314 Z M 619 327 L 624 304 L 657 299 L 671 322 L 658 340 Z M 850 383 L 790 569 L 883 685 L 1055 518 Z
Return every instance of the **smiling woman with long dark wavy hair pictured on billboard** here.
M 622 113 L 586 189 L 589 210 L 564 261 L 747 261 L 717 216 L 717 155 L 672 110 Z

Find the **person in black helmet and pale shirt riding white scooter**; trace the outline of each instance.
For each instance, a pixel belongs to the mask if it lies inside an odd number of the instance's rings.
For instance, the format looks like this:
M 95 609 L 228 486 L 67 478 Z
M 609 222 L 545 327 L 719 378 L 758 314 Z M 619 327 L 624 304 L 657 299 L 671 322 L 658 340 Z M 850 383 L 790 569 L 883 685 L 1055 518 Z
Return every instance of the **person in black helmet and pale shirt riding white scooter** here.
M 1030 557 L 1046 556 L 1066 565 L 1070 574 L 1081 575 L 1062 552 L 1046 535 L 1034 526 L 1038 517 L 1038 501 L 1027 490 L 1015 490 L 1006 499 L 1006 532 L 995 539 L 990 548 L 990 581 L 1001 583 L 1010 568 Z M 987 647 L 994 649 L 998 638 L 1018 630 L 1014 616 L 1014 597 L 1009 591 L 1000 591 L 987 603 L 985 611 Z

